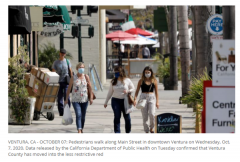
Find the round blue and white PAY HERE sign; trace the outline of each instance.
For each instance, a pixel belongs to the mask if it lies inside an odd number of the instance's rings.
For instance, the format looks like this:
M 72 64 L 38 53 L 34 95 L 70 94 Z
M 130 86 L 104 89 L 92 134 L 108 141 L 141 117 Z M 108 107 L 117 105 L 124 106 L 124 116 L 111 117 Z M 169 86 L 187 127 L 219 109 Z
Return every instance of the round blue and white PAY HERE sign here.
M 208 18 L 206 24 L 207 31 L 213 35 L 223 34 L 223 19 L 222 15 L 215 14 Z

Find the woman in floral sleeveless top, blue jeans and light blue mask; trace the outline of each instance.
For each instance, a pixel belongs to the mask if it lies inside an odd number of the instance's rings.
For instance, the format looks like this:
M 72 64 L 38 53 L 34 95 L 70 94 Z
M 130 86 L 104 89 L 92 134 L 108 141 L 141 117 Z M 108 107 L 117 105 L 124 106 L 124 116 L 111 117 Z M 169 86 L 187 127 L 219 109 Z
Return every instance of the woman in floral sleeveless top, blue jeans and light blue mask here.
M 66 98 L 68 98 L 70 90 L 72 88 L 72 105 L 76 114 L 77 130 L 78 133 L 83 133 L 85 116 L 88 106 L 88 90 L 91 92 L 92 87 L 88 75 L 84 74 L 84 64 L 80 62 L 77 64 L 76 69 L 78 73 L 71 77 Z M 91 96 L 90 105 L 92 103 L 93 99 Z M 67 100 L 65 100 L 65 104 L 67 104 Z

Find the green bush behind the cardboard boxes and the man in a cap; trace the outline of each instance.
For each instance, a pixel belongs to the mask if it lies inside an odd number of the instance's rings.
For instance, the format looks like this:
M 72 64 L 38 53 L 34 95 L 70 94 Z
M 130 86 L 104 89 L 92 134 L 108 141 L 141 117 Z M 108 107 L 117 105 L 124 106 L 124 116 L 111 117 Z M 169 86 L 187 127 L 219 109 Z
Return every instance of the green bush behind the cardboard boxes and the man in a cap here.
M 52 69 L 52 64 L 55 60 L 59 59 L 60 51 L 55 48 L 53 43 L 47 42 L 46 44 L 41 45 L 41 48 L 38 49 L 38 60 L 39 66 Z M 72 55 L 67 52 L 67 59 L 72 59 Z

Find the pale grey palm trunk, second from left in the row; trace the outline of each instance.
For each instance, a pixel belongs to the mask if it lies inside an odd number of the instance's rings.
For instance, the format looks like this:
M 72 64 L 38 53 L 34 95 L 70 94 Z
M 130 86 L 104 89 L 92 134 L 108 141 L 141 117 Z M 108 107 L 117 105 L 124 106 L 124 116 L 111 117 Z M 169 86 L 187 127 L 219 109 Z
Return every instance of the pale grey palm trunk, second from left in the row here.
M 180 58 L 181 58 L 181 72 L 182 72 L 182 96 L 188 94 L 189 91 L 189 64 L 190 64 L 190 50 L 189 50 L 189 33 L 188 33 L 188 15 L 187 6 L 178 6 L 178 27 L 180 40 Z

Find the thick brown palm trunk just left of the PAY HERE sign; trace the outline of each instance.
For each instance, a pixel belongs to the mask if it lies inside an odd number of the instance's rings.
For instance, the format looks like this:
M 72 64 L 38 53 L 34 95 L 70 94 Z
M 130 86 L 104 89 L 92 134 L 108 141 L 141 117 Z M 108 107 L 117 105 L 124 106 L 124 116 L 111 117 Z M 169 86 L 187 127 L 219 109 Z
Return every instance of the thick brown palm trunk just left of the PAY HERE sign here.
M 206 31 L 206 21 L 209 15 L 206 14 L 206 11 L 206 6 L 194 6 L 197 75 L 203 74 L 207 66 L 208 34 Z

